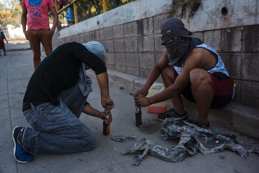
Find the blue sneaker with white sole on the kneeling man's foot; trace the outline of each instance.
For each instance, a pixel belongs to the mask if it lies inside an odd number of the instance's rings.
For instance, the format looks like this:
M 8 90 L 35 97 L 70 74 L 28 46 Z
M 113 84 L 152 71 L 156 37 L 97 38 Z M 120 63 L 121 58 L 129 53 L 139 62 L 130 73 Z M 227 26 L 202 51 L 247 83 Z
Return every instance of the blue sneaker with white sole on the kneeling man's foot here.
M 14 159 L 20 163 L 27 163 L 34 159 L 31 153 L 27 153 L 22 144 L 23 130 L 24 127 L 15 127 L 13 130 L 13 141 L 14 141 Z

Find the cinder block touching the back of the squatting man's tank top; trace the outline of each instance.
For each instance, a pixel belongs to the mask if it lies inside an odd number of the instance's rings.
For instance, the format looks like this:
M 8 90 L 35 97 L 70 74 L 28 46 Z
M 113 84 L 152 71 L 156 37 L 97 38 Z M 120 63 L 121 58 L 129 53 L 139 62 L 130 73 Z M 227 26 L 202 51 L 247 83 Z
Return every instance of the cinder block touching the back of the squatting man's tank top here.
M 241 59 L 242 54 L 219 54 L 221 57 L 229 76 L 233 79 L 241 79 Z

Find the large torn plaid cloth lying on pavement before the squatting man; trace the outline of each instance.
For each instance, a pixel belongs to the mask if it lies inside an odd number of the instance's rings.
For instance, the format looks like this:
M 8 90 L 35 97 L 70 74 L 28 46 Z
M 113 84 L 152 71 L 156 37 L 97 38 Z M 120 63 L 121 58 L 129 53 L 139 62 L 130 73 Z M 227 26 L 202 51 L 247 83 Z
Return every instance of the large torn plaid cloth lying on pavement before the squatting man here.
M 189 119 L 189 122 L 193 120 L 195 119 Z M 196 154 L 197 150 L 203 154 L 209 154 L 221 152 L 226 147 L 237 151 L 243 158 L 247 157 L 247 152 L 259 153 L 254 149 L 247 150 L 241 141 L 236 141 L 236 135 L 234 134 L 209 131 L 180 119 L 165 119 L 161 136 L 163 140 L 180 138 L 179 144 L 172 147 L 170 152 L 167 148 L 143 138 L 140 142 L 134 144 L 129 151 L 121 154 L 141 153 L 141 155 L 136 156 L 137 159 L 133 163 L 139 165 L 139 162 L 144 160 L 148 153 L 168 162 L 180 162 L 184 159 L 184 156 Z

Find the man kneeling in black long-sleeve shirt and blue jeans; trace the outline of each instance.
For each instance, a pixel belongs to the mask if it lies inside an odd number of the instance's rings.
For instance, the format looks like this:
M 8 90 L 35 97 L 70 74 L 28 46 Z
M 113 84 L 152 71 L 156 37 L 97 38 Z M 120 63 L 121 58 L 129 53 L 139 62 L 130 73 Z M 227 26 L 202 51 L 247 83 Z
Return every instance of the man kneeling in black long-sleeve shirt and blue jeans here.
M 29 127 L 13 129 L 14 158 L 32 161 L 33 154 L 87 151 L 96 143 L 93 132 L 79 120 L 81 113 L 111 123 L 111 112 L 100 112 L 87 103 L 93 91 L 87 69 L 95 71 L 102 107 L 114 108 L 108 90 L 105 49 L 99 42 L 65 43 L 37 67 L 23 98 L 23 115 Z

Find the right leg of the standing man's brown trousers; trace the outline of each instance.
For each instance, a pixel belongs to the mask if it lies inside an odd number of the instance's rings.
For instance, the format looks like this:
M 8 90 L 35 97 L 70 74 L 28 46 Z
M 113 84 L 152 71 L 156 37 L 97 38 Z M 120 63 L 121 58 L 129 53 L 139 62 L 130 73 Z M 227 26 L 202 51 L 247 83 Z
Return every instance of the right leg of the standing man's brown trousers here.
M 49 30 L 40 29 L 38 31 L 38 37 L 44 47 L 46 56 L 48 56 L 52 52 L 52 37 L 49 36 Z

